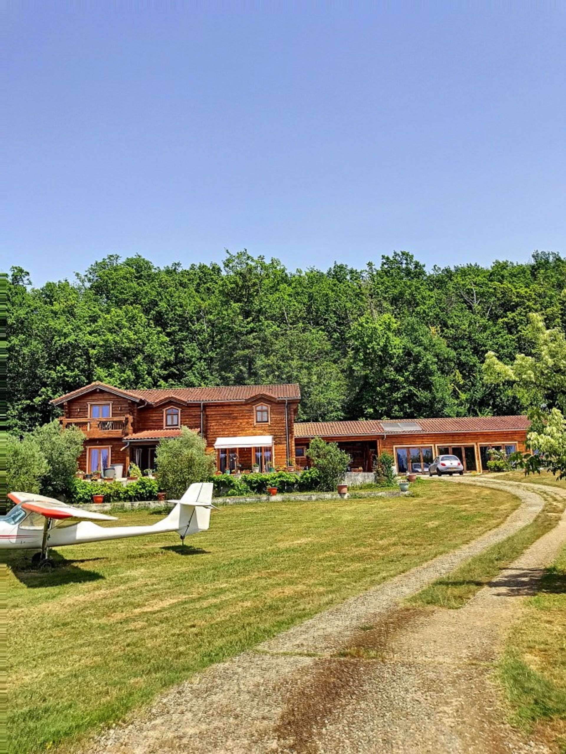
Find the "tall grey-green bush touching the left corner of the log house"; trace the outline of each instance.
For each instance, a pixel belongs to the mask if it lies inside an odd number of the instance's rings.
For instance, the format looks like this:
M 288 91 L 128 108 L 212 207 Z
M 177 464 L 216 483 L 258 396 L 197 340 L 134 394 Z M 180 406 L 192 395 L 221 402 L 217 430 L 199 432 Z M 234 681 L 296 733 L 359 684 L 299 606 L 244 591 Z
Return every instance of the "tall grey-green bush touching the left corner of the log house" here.
M 58 421 L 51 421 L 36 428 L 32 437 L 48 464 L 42 481 L 42 494 L 51 498 L 66 498 L 72 491 L 85 435 L 76 427 L 63 429 Z

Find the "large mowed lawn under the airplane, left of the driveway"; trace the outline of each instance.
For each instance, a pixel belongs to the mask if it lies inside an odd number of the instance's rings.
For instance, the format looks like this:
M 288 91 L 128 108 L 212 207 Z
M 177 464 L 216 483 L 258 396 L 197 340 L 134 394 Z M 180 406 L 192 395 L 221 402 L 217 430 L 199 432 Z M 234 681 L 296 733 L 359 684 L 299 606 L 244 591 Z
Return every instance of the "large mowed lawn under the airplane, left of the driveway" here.
M 501 523 L 518 498 L 464 485 L 414 497 L 214 510 L 211 529 L 8 559 L 9 751 L 42 751 Z M 154 523 L 148 511 L 121 523 Z M 217 711 L 217 713 L 221 713 Z

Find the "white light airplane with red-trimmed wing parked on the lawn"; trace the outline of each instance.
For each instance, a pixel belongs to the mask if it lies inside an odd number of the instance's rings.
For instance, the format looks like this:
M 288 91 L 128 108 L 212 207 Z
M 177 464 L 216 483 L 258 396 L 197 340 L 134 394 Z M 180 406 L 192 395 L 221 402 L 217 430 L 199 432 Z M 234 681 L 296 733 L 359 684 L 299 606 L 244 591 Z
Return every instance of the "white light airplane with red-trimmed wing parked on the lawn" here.
M 186 535 L 208 529 L 211 520 L 212 483 L 192 484 L 171 513 L 152 526 L 98 526 L 95 521 L 115 521 L 115 516 L 82 510 L 32 492 L 8 492 L 16 505 L 0 516 L 0 549 L 39 550 L 32 563 L 44 569 L 53 566 L 50 547 L 100 542 L 106 539 L 141 537 L 177 532 L 184 544 Z

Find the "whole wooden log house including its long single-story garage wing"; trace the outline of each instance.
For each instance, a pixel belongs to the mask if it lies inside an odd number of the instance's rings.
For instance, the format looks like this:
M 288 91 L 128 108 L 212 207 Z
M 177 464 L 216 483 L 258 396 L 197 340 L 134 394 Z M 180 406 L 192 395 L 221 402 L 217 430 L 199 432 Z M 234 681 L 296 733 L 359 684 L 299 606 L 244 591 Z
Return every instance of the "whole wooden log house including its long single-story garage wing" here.
M 181 427 L 197 431 L 230 472 L 308 466 L 313 437 L 337 442 L 352 458 L 352 470 L 371 471 L 374 458 L 389 452 L 400 474 L 426 472 L 436 455 L 451 453 L 467 472 L 487 470 L 488 450 L 524 450 L 526 416 L 398 419 L 391 421 L 297 422 L 300 388 L 288 385 L 232 385 L 213 388 L 122 390 L 102 382 L 55 398 L 63 426 L 85 433 L 79 467 L 102 472 L 131 462 L 155 467 L 161 438 L 178 437 Z

